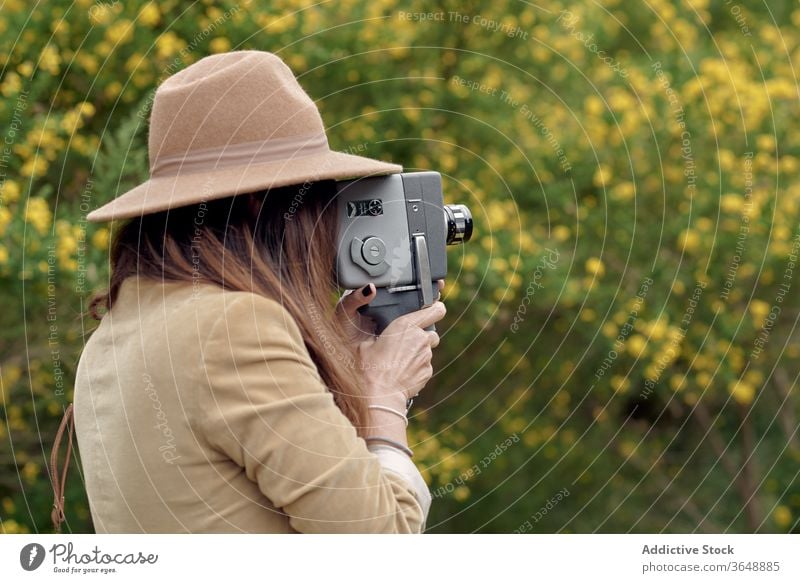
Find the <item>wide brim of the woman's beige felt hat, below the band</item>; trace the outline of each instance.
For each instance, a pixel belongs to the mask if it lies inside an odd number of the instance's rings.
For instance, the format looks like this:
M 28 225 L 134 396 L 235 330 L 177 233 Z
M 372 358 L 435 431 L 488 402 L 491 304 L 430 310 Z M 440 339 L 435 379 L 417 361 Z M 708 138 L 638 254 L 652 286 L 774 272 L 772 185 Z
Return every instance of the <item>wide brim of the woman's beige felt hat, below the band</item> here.
M 330 151 L 277 162 L 155 177 L 93 210 L 86 220 L 98 223 L 129 219 L 268 188 L 397 174 L 402 171 L 403 167 L 398 164 Z

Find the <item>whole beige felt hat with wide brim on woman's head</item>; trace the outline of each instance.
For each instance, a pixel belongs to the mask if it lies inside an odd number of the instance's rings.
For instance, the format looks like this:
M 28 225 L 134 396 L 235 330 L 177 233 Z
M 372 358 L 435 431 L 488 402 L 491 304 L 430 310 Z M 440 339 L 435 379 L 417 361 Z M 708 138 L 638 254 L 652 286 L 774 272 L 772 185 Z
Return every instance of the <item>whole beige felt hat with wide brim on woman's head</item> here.
M 164 81 L 150 116 L 150 179 L 90 212 L 92 222 L 402 166 L 335 152 L 311 98 L 272 53 L 205 57 Z

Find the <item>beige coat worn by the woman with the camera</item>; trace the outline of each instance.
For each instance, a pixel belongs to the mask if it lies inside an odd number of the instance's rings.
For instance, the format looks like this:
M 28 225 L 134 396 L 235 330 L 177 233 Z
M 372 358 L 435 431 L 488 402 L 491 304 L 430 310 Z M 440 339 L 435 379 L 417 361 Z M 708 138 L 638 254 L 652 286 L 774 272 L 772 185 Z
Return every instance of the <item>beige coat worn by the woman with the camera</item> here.
M 78 363 L 75 428 L 97 532 L 420 532 L 430 506 L 251 293 L 125 280 Z

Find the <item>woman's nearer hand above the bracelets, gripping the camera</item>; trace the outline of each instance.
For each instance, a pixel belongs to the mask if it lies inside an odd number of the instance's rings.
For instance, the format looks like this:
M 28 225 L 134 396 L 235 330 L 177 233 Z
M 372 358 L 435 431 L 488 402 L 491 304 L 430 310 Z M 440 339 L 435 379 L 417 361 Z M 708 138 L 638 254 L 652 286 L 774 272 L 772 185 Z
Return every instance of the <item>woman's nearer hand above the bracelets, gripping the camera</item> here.
M 439 335 L 424 328 L 441 320 L 446 311 L 442 302 L 434 302 L 427 308 L 400 316 L 380 336 L 358 344 L 359 364 L 370 405 L 405 411 L 406 401 L 427 384 L 433 376 L 431 358 L 439 344 Z

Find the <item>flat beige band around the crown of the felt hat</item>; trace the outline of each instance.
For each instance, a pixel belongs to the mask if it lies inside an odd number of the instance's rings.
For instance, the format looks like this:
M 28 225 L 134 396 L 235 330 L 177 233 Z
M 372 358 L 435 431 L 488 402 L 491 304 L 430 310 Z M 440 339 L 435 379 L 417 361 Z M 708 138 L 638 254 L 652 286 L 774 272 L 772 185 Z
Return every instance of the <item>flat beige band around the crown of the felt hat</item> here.
M 259 142 L 242 142 L 217 148 L 189 150 L 184 154 L 161 156 L 150 167 L 150 176 L 163 178 L 178 174 L 208 172 L 217 168 L 248 166 L 330 152 L 325 133 L 289 136 Z

